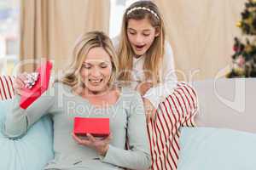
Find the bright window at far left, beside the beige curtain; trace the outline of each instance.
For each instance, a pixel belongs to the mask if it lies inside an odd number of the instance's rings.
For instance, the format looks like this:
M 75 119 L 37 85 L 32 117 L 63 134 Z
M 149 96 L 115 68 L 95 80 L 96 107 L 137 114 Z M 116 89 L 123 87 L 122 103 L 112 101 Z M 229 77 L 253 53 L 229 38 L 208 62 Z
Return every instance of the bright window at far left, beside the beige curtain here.
M 0 74 L 12 74 L 18 61 L 20 1 L 0 0 Z

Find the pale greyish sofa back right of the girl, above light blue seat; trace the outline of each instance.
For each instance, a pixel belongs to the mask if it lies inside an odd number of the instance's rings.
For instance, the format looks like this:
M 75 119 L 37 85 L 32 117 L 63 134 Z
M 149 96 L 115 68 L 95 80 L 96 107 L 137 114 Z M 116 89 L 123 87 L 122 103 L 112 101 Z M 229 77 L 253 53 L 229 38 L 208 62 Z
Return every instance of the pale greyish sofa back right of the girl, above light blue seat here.
M 256 133 L 256 78 L 221 78 L 193 83 L 198 94 L 198 127 L 225 127 Z

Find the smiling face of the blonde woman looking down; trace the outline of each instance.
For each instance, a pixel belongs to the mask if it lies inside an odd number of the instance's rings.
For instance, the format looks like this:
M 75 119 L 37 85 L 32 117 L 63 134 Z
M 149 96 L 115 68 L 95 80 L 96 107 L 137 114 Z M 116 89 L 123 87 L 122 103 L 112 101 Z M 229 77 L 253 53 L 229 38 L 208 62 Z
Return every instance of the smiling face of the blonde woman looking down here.
M 94 94 L 106 91 L 111 73 L 109 54 L 104 48 L 91 48 L 80 71 L 85 88 Z

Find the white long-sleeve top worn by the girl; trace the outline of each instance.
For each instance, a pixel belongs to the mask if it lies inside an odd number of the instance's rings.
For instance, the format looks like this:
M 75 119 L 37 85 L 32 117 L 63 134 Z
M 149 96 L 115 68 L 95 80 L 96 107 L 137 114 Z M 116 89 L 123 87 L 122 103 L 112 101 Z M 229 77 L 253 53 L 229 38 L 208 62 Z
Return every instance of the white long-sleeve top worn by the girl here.
M 114 48 L 119 48 L 119 37 L 113 38 Z M 132 82 L 131 88 L 135 89 L 139 82 L 145 81 L 145 75 L 143 73 L 143 65 L 146 55 L 139 58 L 133 57 L 132 67 Z M 163 63 L 160 68 L 161 82 L 153 88 L 149 88 L 148 92 L 143 95 L 143 98 L 149 99 L 149 101 L 157 108 L 160 102 L 172 93 L 172 90 L 177 85 L 177 76 L 175 74 L 174 59 L 172 47 L 169 42 L 165 42 L 165 54 Z

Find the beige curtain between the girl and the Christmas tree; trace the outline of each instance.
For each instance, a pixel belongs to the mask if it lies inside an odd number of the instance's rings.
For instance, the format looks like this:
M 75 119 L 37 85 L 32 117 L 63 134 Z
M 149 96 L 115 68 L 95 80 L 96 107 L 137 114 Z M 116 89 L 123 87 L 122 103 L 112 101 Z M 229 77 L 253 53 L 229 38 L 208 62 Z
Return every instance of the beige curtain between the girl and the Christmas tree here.
M 230 65 L 234 37 L 241 36 L 236 23 L 246 0 L 154 2 L 164 14 L 179 79 L 213 78 Z

